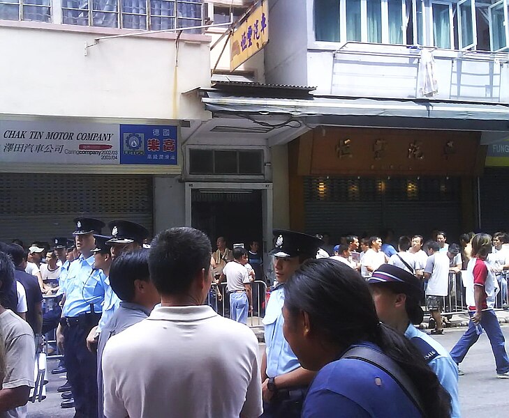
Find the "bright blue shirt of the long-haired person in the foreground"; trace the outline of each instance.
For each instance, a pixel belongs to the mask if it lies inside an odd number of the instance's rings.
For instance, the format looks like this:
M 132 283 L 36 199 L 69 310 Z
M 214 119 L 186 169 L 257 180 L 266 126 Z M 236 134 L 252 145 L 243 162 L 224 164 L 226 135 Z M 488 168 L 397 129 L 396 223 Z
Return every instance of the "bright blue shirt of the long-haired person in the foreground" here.
M 381 351 L 373 343 L 360 343 Z M 379 379 L 377 379 L 379 378 Z M 377 385 L 381 384 L 380 385 Z M 387 373 L 360 359 L 339 359 L 316 374 L 302 418 L 420 418 L 419 410 Z

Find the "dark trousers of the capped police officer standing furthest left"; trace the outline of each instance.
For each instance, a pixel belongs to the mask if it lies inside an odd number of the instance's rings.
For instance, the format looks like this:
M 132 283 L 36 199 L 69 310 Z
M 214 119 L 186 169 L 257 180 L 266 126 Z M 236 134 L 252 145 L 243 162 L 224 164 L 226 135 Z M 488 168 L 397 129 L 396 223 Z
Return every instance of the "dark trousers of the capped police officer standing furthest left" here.
M 67 380 L 71 384 L 76 418 L 97 418 L 97 357 L 87 349 L 93 324 L 64 327 Z

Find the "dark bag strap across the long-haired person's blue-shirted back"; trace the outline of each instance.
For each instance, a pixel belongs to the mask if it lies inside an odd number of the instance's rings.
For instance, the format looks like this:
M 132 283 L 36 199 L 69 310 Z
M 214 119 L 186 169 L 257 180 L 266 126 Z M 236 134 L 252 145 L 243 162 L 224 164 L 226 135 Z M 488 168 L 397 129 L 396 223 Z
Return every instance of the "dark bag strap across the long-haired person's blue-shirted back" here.
M 394 382 L 397 382 L 399 387 L 401 387 L 401 390 L 413 402 L 415 408 L 419 410 L 421 415 L 423 417 L 426 416 L 425 410 L 422 408 L 420 396 L 417 389 L 415 389 L 415 385 L 393 359 L 377 350 L 374 350 L 373 348 L 361 346 L 350 348 L 346 351 L 346 353 L 344 353 L 344 355 L 341 356 L 341 358 L 361 360 L 362 362 L 373 364 L 378 367 L 378 369 L 385 371 L 385 373 L 387 373 Z

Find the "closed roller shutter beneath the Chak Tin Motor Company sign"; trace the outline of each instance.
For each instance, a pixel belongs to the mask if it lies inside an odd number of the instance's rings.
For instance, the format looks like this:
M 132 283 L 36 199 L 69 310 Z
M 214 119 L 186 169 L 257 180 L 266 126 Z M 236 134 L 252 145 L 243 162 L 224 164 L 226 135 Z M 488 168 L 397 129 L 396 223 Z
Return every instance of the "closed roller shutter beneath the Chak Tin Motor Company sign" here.
M 152 176 L 1 173 L 0 240 L 71 238 L 82 215 L 105 224 L 128 219 L 152 234 L 152 201 Z

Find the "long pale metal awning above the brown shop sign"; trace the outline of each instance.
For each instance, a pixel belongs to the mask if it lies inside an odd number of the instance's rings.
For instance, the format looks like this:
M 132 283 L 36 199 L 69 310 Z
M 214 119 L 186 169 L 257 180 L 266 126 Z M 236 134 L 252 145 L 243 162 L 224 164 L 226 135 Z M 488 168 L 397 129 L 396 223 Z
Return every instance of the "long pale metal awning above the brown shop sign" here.
M 369 98 L 263 98 L 206 92 L 213 114 L 300 118 L 317 125 L 509 131 L 509 104 Z

